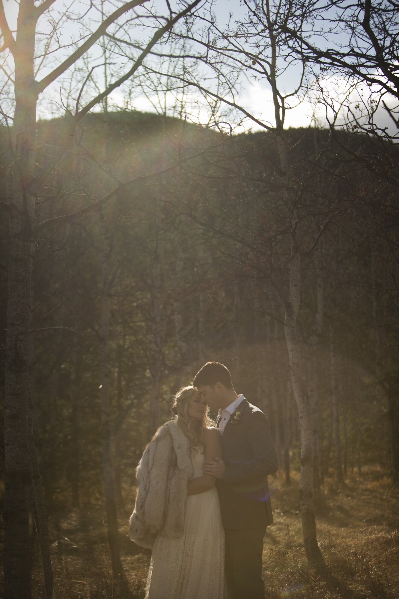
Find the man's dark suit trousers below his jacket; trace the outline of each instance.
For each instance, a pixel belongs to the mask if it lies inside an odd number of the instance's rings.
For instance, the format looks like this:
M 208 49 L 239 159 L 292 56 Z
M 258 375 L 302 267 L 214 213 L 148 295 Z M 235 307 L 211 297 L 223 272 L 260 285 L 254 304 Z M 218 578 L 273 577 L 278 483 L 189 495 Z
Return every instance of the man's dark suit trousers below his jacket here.
M 226 528 L 228 599 L 265 599 L 262 550 L 266 527 Z

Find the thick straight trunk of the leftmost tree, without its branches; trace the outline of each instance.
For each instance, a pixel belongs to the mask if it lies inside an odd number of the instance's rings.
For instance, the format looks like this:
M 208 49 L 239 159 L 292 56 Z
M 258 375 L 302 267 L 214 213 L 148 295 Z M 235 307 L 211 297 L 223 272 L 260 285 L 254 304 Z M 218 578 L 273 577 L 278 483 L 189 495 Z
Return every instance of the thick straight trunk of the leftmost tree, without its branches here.
M 4 394 L 4 580 L 7 599 L 30 599 L 29 558 L 29 329 L 34 249 L 36 102 L 34 0 L 19 4 L 14 55 L 16 106 L 10 184 L 7 346 Z

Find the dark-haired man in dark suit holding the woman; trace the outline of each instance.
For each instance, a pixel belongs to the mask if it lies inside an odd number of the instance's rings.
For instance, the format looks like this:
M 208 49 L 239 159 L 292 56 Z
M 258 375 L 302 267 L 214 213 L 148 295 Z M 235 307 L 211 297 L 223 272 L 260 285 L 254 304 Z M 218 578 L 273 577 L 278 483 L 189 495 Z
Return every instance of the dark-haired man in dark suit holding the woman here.
M 266 527 L 273 522 L 267 475 L 277 471 L 276 449 L 261 410 L 237 395 L 228 368 L 207 362 L 192 383 L 222 433 L 223 460 L 204 464 L 216 476 L 226 534 L 225 571 L 229 599 L 264 599 L 262 550 Z

